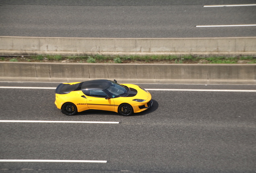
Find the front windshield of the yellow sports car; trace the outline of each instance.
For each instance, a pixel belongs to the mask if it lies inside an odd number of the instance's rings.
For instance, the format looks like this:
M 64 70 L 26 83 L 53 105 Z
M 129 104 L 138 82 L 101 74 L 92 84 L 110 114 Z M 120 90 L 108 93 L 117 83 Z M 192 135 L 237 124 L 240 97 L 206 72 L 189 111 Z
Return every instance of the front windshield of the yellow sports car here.
M 124 95 L 128 92 L 128 90 L 124 86 L 122 86 L 122 85 L 120 85 L 116 82 L 111 82 L 111 85 L 107 89 L 105 89 L 104 91 L 108 95 L 110 95 L 112 98 L 119 97 L 119 96 Z

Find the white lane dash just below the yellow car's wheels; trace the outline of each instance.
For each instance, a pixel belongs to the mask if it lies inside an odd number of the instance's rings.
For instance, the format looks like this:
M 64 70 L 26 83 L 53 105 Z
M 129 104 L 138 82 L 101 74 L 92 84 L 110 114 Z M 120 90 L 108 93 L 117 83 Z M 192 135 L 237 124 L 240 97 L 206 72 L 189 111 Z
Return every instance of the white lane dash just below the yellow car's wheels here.
M 30 121 L 30 120 L 0 120 L 0 123 L 101 123 L 101 124 L 119 124 L 119 122 L 107 122 L 107 121 Z

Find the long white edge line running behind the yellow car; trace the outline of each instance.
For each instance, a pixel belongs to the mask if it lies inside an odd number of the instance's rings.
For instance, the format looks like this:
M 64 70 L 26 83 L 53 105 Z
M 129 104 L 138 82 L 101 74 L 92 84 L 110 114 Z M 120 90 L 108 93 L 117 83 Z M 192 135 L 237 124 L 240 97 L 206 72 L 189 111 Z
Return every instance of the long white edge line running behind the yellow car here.
M 55 87 L 0 87 L 0 89 L 56 89 Z M 216 89 L 146 89 L 148 91 L 226 91 L 226 92 L 256 92 L 256 90 L 216 90 Z M 78 121 L 76 121 L 78 122 Z

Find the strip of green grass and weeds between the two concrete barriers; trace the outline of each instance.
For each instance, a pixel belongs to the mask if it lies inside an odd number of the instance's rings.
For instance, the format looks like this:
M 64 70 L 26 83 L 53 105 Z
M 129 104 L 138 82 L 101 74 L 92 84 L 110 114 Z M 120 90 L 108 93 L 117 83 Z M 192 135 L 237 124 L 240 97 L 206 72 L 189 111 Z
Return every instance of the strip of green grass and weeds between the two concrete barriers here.
M 36 56 L 0 56 L 0 61 L 13 62 L 81 62 L 81 63 L 175 63 L 175 64 L 237 64 L 256 63 L 254 56 L 235 57 L 198 57 L 175 55 L 152 56 L 61 56 L 61 55 L 36 55 Z

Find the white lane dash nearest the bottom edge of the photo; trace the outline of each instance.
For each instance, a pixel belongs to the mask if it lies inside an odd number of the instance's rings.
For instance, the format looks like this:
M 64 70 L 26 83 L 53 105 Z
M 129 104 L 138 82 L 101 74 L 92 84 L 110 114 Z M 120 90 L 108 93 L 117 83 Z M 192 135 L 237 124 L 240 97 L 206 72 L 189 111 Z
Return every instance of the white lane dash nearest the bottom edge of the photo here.
M 83 163 L 107 163 L 107 161 L 96 160 L 27 160 L 27 159 L 2 159 L 0 162 L 83 162 Z

